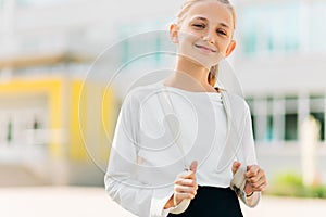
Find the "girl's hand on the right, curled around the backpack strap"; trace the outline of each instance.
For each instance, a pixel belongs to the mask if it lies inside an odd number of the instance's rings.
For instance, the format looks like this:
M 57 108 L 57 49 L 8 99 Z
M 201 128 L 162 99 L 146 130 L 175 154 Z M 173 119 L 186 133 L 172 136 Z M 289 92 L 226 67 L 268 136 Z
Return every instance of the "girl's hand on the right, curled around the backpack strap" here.
M 240 162 L 235 162 L 233 165 L 233 173 L 236 171 L 241 166 Z M 244 174 L 246 177 L 246 186 L 244 191 L 246 194 L 250 194 L 251 192 L 255 191 L 264 191 L 267 187 L 267 179 L 265 171 L 260 168 L 258 165 L 249 165 L 247 166 L 247 173 Z

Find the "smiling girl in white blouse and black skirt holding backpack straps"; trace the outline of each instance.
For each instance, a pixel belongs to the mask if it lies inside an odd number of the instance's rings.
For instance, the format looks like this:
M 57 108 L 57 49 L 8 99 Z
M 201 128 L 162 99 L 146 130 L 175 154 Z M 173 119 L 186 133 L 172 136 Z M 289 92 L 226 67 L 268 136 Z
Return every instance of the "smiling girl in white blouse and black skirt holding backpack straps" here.
M 105 189 L 135 215 L 238 217 L 238 197 L 253 207 L 266 188 L 248 105 L 214 87 L 235 24 L 227 0 L 187 0 L 170 27 L 174 73 L 125 99 Z

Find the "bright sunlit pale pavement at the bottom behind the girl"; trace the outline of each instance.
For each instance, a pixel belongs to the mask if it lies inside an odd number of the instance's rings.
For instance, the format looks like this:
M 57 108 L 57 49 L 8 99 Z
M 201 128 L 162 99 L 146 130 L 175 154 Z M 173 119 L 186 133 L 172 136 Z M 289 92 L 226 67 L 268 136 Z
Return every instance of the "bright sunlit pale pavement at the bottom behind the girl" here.
M 326 200 L 263 196 L 255 208 L 241 207 L 244 217 L 326 215 Z M 0 188 L 0 216 L 135 217 L 112 202 L 104 189 L 83 187 Z

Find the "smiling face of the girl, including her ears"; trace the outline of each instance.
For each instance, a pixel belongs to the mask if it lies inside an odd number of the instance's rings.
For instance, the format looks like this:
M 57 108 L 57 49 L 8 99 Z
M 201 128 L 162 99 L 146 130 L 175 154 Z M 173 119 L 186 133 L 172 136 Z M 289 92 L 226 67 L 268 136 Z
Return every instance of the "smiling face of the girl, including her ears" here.
M 206 68 L 216 65 L 235 49 L 231 10 L 216 0 L 198 1 L 179 24 L 171 26 L 179 58 Z

